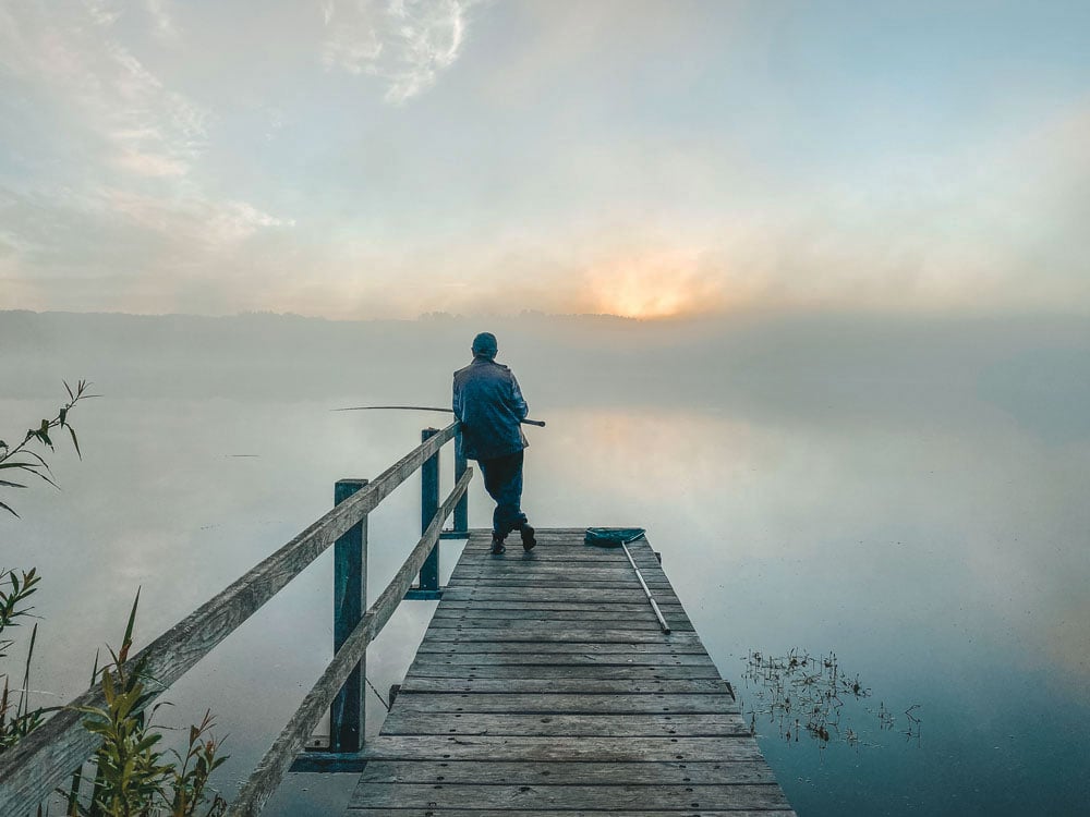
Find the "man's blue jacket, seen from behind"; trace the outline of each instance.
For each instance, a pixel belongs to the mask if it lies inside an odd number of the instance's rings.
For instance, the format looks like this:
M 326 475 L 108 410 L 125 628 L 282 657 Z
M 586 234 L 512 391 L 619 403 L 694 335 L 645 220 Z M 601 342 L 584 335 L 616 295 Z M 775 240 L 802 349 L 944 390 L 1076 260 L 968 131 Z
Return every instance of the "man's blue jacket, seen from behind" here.
M 530 443 L 520 420 L 530 414 L 514 374 L 488 357 L 455 373 L 455 416 L 462 423 L 462 453 L 470 460 L 494 460 Z

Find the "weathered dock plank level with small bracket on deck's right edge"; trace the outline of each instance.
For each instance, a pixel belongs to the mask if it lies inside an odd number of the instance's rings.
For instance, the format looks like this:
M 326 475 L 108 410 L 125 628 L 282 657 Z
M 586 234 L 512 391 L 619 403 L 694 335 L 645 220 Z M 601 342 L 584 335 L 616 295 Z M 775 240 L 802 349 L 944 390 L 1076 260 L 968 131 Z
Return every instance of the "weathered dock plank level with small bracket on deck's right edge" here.
M 730 684 L 715 679 L 594 679 L 594 678 L 526 678 L 526 679 L 453 679 L 410 675 L 401 693 L 444 693 L 496 695 L 502 693 L 625 695 L 687 694 L 731 695 Z M 400 698 L 399 698 L 400 699 Z

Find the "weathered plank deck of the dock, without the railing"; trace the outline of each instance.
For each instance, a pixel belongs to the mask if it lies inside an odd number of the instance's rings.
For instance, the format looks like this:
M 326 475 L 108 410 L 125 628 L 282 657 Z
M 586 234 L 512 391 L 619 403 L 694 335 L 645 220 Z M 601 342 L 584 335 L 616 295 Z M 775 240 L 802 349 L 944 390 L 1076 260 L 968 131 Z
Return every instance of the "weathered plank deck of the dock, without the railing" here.
M 646 539 L 471 533 L 352 817 L 794 815 Z

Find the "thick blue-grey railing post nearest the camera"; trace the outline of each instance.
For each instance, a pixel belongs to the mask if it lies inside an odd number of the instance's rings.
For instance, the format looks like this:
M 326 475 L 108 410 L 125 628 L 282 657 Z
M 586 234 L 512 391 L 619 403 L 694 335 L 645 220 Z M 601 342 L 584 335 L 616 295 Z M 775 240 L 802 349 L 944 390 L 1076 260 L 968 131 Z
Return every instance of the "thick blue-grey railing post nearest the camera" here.
M 366 479 L 340 479 L 334 487 L 334 504 L 340 504 L 367 484 Z M 334 546 L 334 653 L 355 630 L 367 609 L 367 515 L 337 539 Z M 359 752 L 366 722 L 364 678 L 367 654 L 349 674 L 329 708 L 329 751 Z

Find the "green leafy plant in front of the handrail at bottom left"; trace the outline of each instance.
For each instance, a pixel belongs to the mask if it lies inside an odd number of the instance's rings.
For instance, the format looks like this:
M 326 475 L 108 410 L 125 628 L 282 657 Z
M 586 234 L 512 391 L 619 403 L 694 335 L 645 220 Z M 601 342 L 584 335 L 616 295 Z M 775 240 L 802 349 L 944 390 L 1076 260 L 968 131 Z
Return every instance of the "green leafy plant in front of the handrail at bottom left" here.
M 146 660 L 129 662 L 138 603 L 140 593 L 129 614 L 121 649 L 110 650 L 113 663 L 101 672 L 106 706 L 80 709 L 86 716 L 84 727 L 101 737 L 102 743 L 93 758 L 96 772 L 90 802 L 87 805 L 80 802 L 82 775 L 77 772 L 65 793 L 68 814 L 71 817 L 218 817 L 226 812 L 227 803 L 218 794 L 209 802 L 208 778 L 227 757 L 217 754 L 219 743 L 211 736 L 215 725 L 211 714 L 206 711 L 199 725 L 190 727 L 184 756 L 173 749 L 164 753 L 159 747 L 162 733 L 145 722 L 144 706 L 155 695 L 147 687 L 153 680 L 146 675 Z

